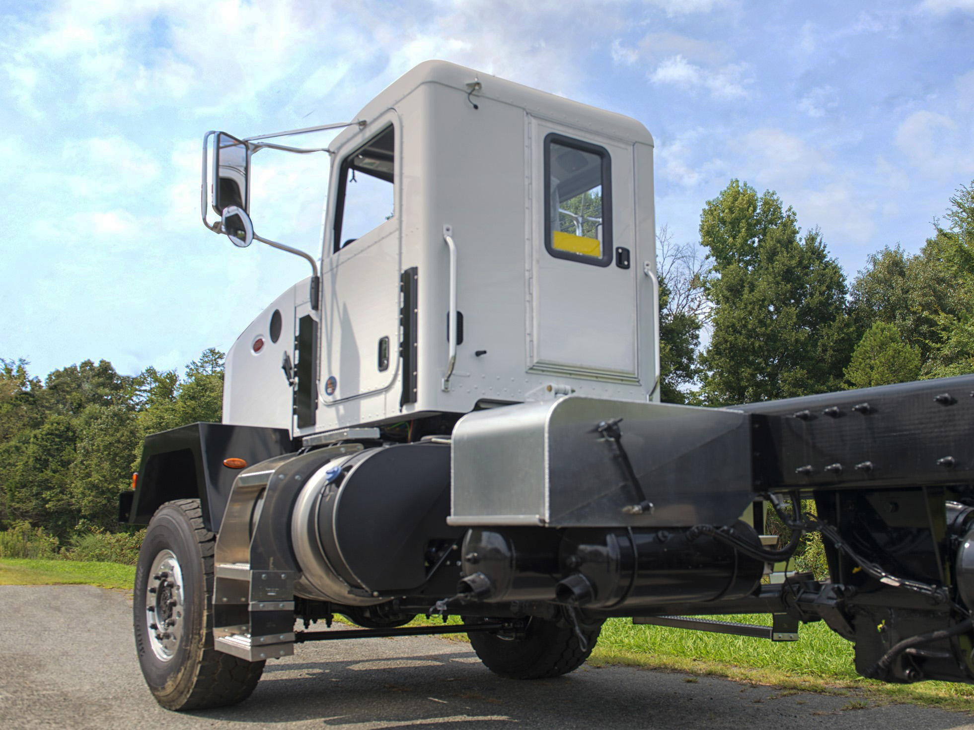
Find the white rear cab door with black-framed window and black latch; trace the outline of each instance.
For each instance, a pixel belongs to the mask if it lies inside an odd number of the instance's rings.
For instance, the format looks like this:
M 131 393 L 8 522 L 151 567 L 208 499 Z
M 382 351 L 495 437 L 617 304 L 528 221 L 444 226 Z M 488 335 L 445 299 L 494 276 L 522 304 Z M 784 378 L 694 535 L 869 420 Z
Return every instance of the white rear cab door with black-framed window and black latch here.
M 528 124 L 529 370 L 638 383 L 633 147 Z

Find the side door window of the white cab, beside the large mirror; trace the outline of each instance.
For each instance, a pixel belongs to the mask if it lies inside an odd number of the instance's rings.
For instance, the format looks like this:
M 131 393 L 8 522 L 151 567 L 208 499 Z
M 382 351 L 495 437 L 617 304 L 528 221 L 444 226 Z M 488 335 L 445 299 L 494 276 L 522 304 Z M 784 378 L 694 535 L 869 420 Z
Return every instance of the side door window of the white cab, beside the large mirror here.
M 336 251 L 395 214 L 394 142 L 393 128 L 386 128 L 342 164 L 335 215 Z

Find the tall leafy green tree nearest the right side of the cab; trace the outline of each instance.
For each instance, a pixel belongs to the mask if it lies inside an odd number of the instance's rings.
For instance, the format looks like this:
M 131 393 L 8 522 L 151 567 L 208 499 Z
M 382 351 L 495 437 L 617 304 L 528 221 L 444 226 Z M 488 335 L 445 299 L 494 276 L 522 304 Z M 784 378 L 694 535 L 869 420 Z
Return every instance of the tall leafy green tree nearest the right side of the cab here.
M 731 180 L 700 216 L 713 266 L 706 292 L 713 335 L 700 357 L 710 405 L 838 389 L 854 344 L 845 277 L 817 229 L 802 236 L 792 208 Z

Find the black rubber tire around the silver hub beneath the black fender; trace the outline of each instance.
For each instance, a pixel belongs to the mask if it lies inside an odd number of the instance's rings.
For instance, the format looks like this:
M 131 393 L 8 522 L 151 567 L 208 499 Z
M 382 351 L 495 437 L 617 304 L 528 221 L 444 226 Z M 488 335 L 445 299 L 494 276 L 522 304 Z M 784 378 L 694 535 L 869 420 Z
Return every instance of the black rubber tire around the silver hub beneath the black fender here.
M 186 529 L 190 530 L 191 541 L 197 550 L 192 556 L 178 556 L 180 568 L 183 570 L 183 582 L 191 580 L 189 576 L 196 576 L 197 587 L 203 588 L 203 605 L 200 606 L 199 596 L 194 597 L 196 608 L 203 608 L 204 621 L 198 625 L 196 636 L 184 636 L 180 644 L 179 654 L 173 656 L 170 662 L 178 662 L 170 670 L 171 675 L 162 686 L 153 685 L 150 676 L 146 674 L 145 662 L 154 663 L 155 668 L 165 668 L 169 662 L 161 662 L 152 649 L 140 641 L 140 629 L 144 624 L 146 573 L 155 558 L 155 548 L 149 540 L 153 523 L 164 511 L 177 510 L 186 521 Z M 177 518 L 178 519 L 178 518 Z M 189 535 L 187 535 L 189 536 Z M 135 643 L 139 652 L 139 663 L 146 677 L 150 690 L 156 701 L 168 710 L 189 711 L 207 710 L 236 705 L 243 702 L 257 686 L 257 681 L 264 672 L 264 662 L 247 662 L 235 656 L 218 651 L 213 646 L 213 553 L 216 546 L 216 534 L 210 532 L 203 524 L 203 510 L 199 499 L 176 499 L 166 502 L 153 516 L 143 545 L 150 548 L 146 555 L 139 553 L 138 567 L 135 573 L 135 597 L 132 602 L 134 613 Z M 171 546 L 170 548 L 171 549 Z M 148 555 L 152 552 L 152 555 Z M 175 551 L 173 551 L 175 552 Z M 200 581 L 202 577 L 202 581 Z M 141 622 L 141 623 L 140 623 Z M 144 628 L 144 631 L 147 631 Z

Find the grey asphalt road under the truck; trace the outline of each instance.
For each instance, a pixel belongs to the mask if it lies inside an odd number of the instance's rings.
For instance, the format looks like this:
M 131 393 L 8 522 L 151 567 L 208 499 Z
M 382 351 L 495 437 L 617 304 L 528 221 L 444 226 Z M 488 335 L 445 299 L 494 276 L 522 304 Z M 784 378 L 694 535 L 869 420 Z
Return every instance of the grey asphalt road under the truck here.
M 142 683 L 131 600 L 88 586 L 0 586 L 0 727 L 13 728 L 974 728 L 955 712 L 785 694 L 624 667 L 558 679 L 492 675 L 469 644 L 362 639 L 268 662 L 234 708 L 163 710 Z M 872 703 L 871 703 L 872 704 Z

